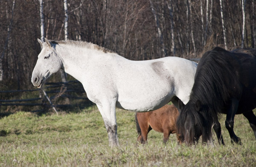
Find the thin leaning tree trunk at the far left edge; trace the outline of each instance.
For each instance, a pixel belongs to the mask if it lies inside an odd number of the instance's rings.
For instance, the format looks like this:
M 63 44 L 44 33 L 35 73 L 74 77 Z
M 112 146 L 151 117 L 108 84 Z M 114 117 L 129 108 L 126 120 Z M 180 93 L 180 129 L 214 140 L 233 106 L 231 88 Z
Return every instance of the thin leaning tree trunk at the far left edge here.
M 6 4 L 7 5 L 7 4 Z M 6 38 L 6 42 L 5 42 L 5 45 L 4 45 L 4 48 L 3 48 L 3 52 L 2 52 L 2 55 L 0 57 L 0 81 L 3 81 L 3 56 L 5 54 L 5 50 L 6 50 L 6 47 L 8 45 L 8 42 L 9 42 L 9 38 L 10 38 L 10 33 L 11 33 L 11 29 L 12 29 L 12 20 L 13 20 L 13 11 L 14 11 L 14 7 L 15 7 L 15 0 L 13 0 L 13 3 L 12 3 L 12 15 L 11 15 L 11 20 L 10 20 L 10 23 L 9 25 L 7 26 L 7 38 Z M 6 15 L 8 17 L 8 10 L 6 8 Z

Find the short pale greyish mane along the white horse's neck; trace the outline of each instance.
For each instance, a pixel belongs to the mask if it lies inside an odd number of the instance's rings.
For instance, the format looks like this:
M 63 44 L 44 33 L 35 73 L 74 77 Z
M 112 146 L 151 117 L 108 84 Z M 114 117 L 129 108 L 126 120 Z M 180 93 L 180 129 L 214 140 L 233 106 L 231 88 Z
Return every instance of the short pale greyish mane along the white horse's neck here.
M 51 43 L 55 43 L 58 45 L 72 45 L 72 46 L 78 46 L 78 47 L 84 47 L 84 48 L 88 48 L 88 49 L 96 49 L 105 53 L 114 53 L 116 54 L 116 52 L 111 51 L 110 49 L 106 49 L 102 46 L 90 43 L 90 42 L 86 42 L 86 41 L 75 41 L 75 40 L 60 40 L 60 41 L 55 41 L 55 40 L 50 40 Z

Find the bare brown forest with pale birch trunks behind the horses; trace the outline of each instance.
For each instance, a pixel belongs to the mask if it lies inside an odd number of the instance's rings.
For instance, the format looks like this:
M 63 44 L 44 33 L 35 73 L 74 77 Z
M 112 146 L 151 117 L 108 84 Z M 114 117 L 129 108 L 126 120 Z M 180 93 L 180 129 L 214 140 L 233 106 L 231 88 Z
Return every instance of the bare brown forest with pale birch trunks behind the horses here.
M 1 0 L 0 90 L 33 88 L 30 80 L 41 51 L 37 38 L 41 37 L 92 42 L 130 60 L 165 56 L 200 58 L 215 46 L 228 50 L 256 48 L 255 3 L 255 0 Z M 61 81 L 61 78 L 57 74 L 51 80 Z

